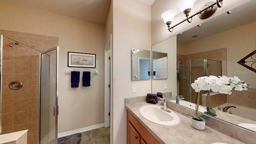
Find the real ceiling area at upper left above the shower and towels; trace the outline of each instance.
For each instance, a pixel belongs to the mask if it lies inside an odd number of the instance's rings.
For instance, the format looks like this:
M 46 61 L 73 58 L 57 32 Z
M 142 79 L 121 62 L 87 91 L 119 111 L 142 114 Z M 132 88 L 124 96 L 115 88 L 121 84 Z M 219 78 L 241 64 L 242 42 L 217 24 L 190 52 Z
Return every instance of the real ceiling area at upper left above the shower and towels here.
M 111 0 L 2 0 L 56 14 L 105 24 Z

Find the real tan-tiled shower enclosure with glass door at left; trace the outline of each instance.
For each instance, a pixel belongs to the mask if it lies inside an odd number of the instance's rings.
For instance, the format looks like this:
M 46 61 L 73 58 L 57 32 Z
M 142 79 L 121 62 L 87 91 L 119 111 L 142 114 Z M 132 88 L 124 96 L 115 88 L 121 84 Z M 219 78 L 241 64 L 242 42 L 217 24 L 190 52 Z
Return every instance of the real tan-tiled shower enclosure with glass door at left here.
M 57 144 L 55 37 L 7 30 L 0 36 L 0 134 L 28 129 L 28 144 Z

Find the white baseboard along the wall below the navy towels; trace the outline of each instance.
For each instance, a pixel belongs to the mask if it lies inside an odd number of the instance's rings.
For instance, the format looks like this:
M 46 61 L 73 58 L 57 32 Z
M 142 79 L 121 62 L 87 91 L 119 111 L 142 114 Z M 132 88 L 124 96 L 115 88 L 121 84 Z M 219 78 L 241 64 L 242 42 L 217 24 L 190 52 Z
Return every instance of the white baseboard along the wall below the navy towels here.
M 88 126 L 88 127 L 84 127 L 84 128 L 79 128 L 79 129 L 76 129 L 76 130 L 70 130 L 68 132 L 62 132 L 62 133 L 58 134 L 58 138 L 63 137 L 63 136 L 69 136 L 71 134 L 76 134 L 76 133 L 79 133 L 79 132 L 85 132 L 85 131 L 88 131 L 88 130 L 93 130 L 95 128 L 101 128 L 103 126 L 104 126 L 104 123 L 96 124 L 96 125 Z

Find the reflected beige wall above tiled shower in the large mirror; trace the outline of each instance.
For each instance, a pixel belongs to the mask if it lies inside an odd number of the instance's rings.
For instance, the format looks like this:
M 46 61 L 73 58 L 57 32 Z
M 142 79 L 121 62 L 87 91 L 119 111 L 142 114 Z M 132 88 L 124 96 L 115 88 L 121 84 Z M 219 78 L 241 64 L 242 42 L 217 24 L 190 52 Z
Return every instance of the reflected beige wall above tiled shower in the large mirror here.
M 189 42 L 185 44 L 186 50 L 182 54 L 188 55 L 218 48 L 227 48 L 227 75 L 238 76 L 241 80 L 250 84 L 250 88 L 256 88 L 255 73 L 249 73 L 251 72 L 250 70 L 237 63 L 256 49 L 255 36 L 256 22 Z M 210 41 L 216 43 L 209 45 Z

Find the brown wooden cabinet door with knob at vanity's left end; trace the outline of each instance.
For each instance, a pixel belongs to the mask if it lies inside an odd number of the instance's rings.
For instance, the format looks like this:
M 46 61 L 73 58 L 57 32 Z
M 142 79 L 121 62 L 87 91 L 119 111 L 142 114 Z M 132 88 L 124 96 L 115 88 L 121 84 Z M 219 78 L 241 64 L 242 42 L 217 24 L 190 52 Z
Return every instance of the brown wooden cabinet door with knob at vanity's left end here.
M 128 122 L 127 128 L 127 144 L 140 144 L 140 134 L 138 134 L 130 122 Z

